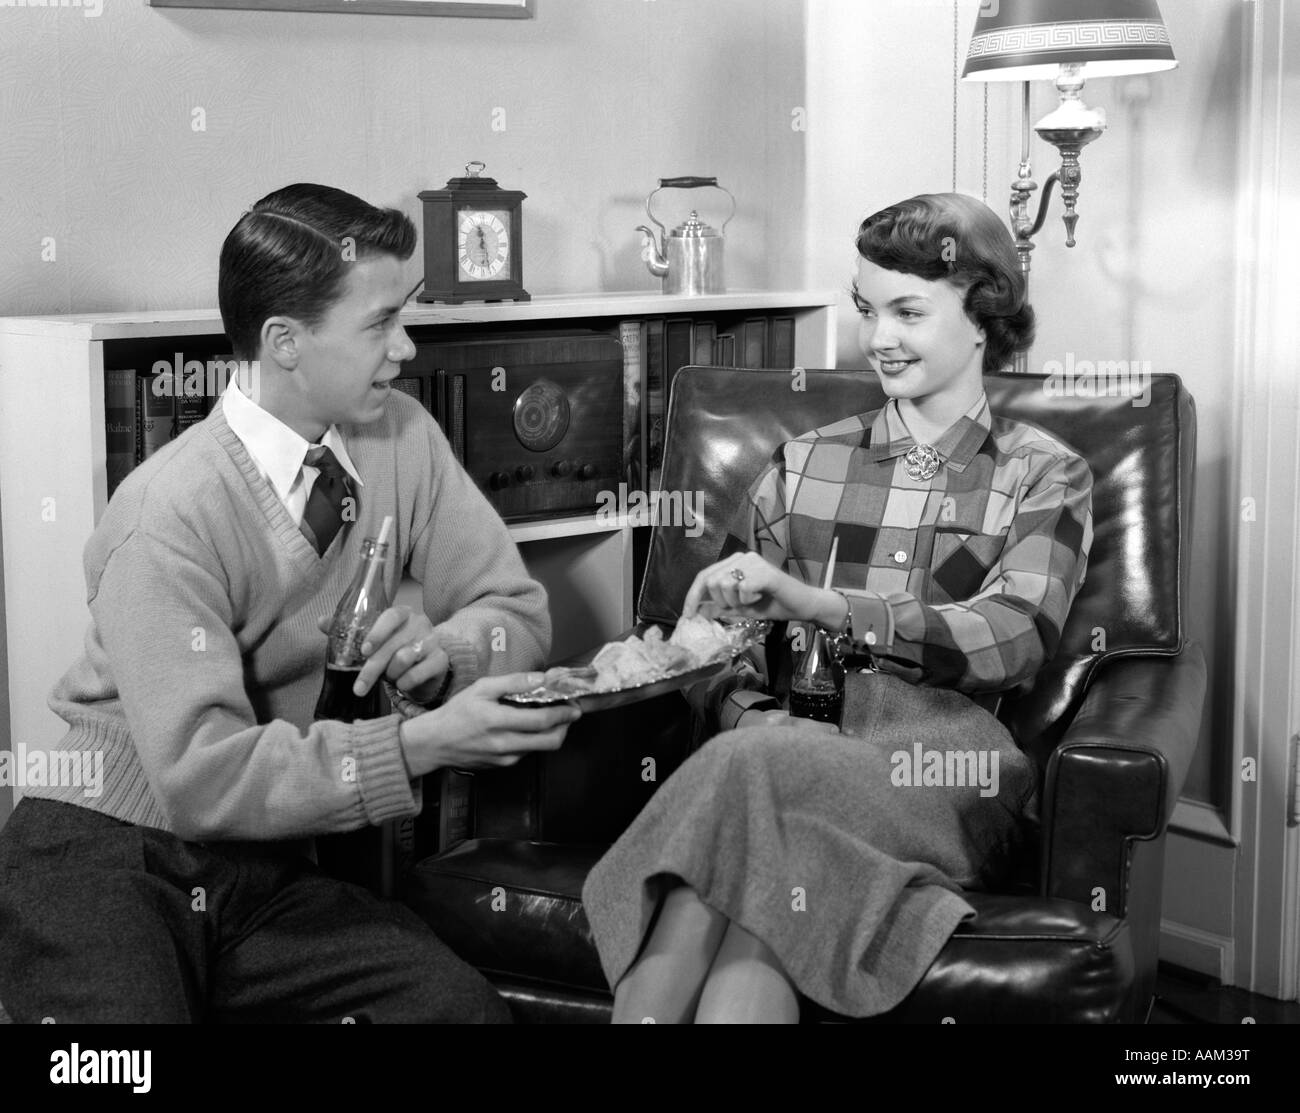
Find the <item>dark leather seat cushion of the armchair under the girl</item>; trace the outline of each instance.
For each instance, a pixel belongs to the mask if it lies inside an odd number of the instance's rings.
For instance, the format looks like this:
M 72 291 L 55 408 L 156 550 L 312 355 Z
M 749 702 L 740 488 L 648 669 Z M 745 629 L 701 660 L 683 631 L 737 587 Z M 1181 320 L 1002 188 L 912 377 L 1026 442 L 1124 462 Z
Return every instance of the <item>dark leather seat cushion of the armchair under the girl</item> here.
M 467 962 L 589 997 L 608 993 L 582 883 L 602 846 L 478 839 L 420 862 L 406 902 Z M 1039 896 L 971 892 L 962 923 L 916 988 L 874 1019 L 1096 1023 L 1134 1019 L 1124 921 Z M 840 1019 L 805 1002 L 809 1019 Z M 1136 1019 L 1140 1019 L 1136 1018 Z

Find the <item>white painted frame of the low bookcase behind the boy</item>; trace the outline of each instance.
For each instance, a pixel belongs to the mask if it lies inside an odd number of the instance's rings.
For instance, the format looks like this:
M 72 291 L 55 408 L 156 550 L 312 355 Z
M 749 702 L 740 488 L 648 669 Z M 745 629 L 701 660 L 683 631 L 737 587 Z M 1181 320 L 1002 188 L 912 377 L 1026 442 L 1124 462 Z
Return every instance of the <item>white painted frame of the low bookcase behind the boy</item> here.
M 792 365 L 835 365 L 836 291 L 748 291 L 708 296 L 593 294 L 477 306 L 408 306 L 402 321 L 439 338 L 458 330 L 571 324 L 619 334 L 629 320 L 693 319 L 719 333 L 750 315 L 794 322 Z M 707 330 L 705 333 L 707 335 Z M 419 341 L 417 341 L 419 342 Z M 46 706 L 81 653 L 86 609 L 82 550 L 108 504 L 105 368 L 122 351 L 224 343 L 216 309 L 0 317 L 0 521 L 4 530 L 4 637 L 9 742 L 57 745 L 64 723 Z M 737 335 L 737 363 L 744 364 Z M 157 358 L 162 358 L 161 355 Z M 688 363 L 696 363 L 692 351 Z M 552 658 L 627 629 L 633 620 L 633 534 L 625 517 L 578 515 L 511 527 L 532 575 L 551 594 Z M 417 585 L 408 583 L 407 601 Z

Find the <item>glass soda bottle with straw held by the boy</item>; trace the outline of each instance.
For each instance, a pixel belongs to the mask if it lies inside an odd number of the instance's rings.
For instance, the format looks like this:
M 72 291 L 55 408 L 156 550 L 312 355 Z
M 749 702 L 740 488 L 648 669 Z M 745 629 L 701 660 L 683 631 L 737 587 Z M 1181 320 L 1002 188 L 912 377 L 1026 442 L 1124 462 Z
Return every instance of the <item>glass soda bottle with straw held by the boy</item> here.
M 325 683 L 316 701 L 317 719 L 354 723 L 358 719 L 378 719 L 384 714 L 378 681 L 364 696 L 354 694 L 352 685 L 365 664 L 361 642 L 389 606 L 384 586 L 384 566 L 389 555 L 385 532 L 381 530 L 380 538 L 367 537 L 361 542 L 361 567 L 334 611 L 325 650 Z

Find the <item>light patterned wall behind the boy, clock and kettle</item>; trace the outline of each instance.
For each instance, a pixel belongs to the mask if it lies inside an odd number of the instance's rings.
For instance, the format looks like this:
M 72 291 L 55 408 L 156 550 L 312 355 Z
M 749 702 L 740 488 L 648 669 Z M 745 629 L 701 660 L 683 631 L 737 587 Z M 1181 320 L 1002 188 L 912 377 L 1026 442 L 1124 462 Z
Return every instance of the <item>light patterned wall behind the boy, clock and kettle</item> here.
M 0 316 L 214 306 L 221 242 L 270 190 L 324 182 L 420 226 L 419 191 L 472 159 L 528 194 L 534 295 L 660 289 L 634 229 L 656 179 L 681 174 L 716 176 L 740 202 L 732 289 L 798 285 L 802 0 L 536 8 L 526 21 L 3 9 Z M 714 191 L 686 196 L 724 215 Z M 6 809 L 0 791 L 0 823 Z

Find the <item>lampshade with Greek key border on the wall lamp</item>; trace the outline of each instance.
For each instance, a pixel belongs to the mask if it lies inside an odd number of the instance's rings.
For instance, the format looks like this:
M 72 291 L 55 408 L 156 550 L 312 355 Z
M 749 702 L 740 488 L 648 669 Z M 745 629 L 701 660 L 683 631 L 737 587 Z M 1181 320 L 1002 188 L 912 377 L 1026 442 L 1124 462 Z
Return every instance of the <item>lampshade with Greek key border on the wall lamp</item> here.
M 1156 0 L 983 0 L 962 77 L 1050 79 L 1065 62 L 1086 78 L 1178 65 Z

